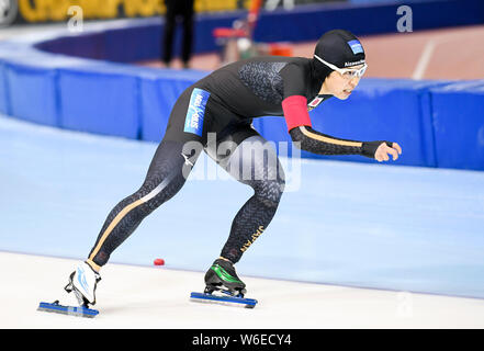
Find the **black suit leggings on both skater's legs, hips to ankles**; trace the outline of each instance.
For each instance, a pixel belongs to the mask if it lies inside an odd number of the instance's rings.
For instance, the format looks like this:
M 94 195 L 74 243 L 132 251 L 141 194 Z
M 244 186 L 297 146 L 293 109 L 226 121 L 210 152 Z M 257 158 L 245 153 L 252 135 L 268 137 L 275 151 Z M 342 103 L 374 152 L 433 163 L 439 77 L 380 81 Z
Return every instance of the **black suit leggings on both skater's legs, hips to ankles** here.
M 221 256 L 238 262 L 272 220 L 284 190 L 284 174 L 275 151 L 250 124 L 227 117 L 229 112 L 210 100 L 203 132 L 184 132 L 191 92 L 188 89 L 177 101 L 143 185 L 108 215 L 89 254 L 88 263 L 93 268 L 104 265 L 146 216 L 177 194 L 202 150 L 232 177 L 254 189 L 254 195 L 233 220 Z M 222 120 L 225 122 L 221 123 Z M 209 133 L 214 133 L 215 138 L 209 138 Z

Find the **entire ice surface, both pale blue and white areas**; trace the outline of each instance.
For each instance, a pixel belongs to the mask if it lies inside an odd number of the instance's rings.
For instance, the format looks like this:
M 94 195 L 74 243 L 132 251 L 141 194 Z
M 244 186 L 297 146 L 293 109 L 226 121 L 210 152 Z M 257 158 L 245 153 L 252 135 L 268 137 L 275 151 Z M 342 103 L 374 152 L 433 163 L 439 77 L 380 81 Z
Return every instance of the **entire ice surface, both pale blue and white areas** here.
M 0 116 L 1 328 L 484 327 L 484 173 L 326 160 L 285 160 L 289 191 L 237 264 L 255 309 L 189 302 L 251 194 L 201 157 L 103 268 L 98 317 L 36 312 L 156 146 Z

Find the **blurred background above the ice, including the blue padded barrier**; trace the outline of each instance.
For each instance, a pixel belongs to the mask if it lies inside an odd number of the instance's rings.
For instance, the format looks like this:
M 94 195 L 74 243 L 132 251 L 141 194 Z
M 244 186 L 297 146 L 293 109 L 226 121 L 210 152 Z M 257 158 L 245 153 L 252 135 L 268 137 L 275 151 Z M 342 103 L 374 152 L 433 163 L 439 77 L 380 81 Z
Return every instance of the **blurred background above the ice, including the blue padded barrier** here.
M 312 112 L 316 126 L 323 127 L 318 125 L 323 115 L 331 116 L 324 124 L 328 134 L 351 138 L 348 126 L 354 123 L 359 137 L 371 139 L 379 138 L 372 127 L 376 123 L 386 138 L 407 145 L 398 165 L 483 169 L 484 131 L 475 113 L 484 78 L 481 1 L 3 0 L 0 4 L 4 81 L 0 112 L 7 115 L 159 141 L 177 97 L 211 70 L 260 55 L 312 57 L 323 33 L 346 29 L 365 48 L 367 79 L 351 104 L 329 101 Z M 36 71 L 35 78 L 25 76 L 26 67 Z M 125 83 L 131 80 L 139 94 L 106 90 L 101 81 L 113 75 Z M 79 84 L 69 84 L 69 79 L 80 79 Z M 162 87 L 162 93 L 156 86 Z M 85 88 L 92 97 L 85 95 Z M 108 91 L 127 93 L 133 105 L 99 104 L 95 99 Z M 350 121 L 351 115 L 360 117 Z M 105 123 L 97 122 L 100 117 Z M 268 139 L 290 141 L 282 118 L 254 125 Z M 336 159 L 369 162 L 352 156 Z

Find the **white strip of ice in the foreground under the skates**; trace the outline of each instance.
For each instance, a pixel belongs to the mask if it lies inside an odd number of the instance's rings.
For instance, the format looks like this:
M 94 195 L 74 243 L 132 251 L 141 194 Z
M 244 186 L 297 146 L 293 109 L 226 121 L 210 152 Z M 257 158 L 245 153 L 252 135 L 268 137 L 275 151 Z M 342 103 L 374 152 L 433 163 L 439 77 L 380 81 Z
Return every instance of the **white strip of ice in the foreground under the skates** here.
M 0 328 L 333 329 L 483 328 L 484 301 L 246 278 L 254 309 L 192 303 L 202 272 L 109 264 L 93 319 L 36 312 L 58 298 L 76 262 L 0 253 L 10 283 Z M 254 296 L 254 294 L 256 296 Z

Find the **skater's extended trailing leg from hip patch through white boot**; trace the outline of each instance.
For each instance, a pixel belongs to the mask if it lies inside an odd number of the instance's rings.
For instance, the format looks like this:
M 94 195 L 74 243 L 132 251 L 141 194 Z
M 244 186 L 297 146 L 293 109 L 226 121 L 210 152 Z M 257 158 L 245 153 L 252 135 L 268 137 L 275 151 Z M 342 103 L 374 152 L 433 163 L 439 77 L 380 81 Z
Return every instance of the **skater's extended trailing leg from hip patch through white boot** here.
M 95 303 L 95 287 L 101 279 L 99 271 L 111 253 L 146 216 L 183 186 L 206 143 L 203 131 L 206 129 L 204 121 L 210 120 L 205 118 L 209 97 L 207 91 L 190 87 L 175 103 L 164 140 L 143 185 L 111 211 L 88 259 L 70 274 L 65 290 L 74 291 L 79 304 Z

